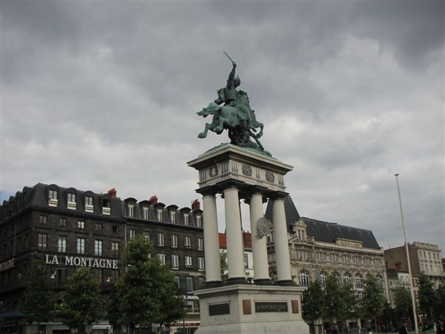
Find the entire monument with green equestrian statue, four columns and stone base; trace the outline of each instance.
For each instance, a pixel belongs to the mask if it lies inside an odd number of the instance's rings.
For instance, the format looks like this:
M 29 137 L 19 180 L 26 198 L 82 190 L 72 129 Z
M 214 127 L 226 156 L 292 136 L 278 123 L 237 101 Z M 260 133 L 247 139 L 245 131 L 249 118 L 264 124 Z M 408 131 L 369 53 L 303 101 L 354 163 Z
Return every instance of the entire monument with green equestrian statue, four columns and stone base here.
M 213 116 L 199 138 L 205 138 L 209 130 L 221 134 L 227 129 L 231 142 L 188 162 L 188 166 L 199 172 L 197 192 L 202 194 L 204 206 L 206 283 L 195 292 L 200 298 L 201 312 L 201 325 L 196 333 L 308 333 L 300 309 L 304 289 L 296 287 L 291 278 L 284 214 L 287 196 L 284 175 L 293 167 L 273 158 L 259 142 L 263 124 L 250 109 L 247 93 L 236 90 L 241 81 L 235 77 L 235 70 L 236 63 L 232 61 L 227 85 L 218 90 L 217 100 L 197 113 Z M 223 196 L 225 205 L 229 278 L 224 284 L 220 273 L 217 194 Z M 266 199 L 273 202 L 277 265 L 274 284 L 268 270 L 269 222 L 263 212 Z M 246 283 L 240 200 L 250 207 L 254 284 Z

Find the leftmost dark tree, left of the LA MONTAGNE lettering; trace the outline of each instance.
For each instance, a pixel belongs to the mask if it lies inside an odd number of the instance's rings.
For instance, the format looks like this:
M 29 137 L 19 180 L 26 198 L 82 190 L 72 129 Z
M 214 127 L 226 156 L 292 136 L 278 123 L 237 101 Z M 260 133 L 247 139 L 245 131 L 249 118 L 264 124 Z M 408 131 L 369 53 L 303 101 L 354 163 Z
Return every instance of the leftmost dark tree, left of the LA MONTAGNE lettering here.
M 31 269 L 26 277 L 24 300 L 20 305 L 29 324 L 34 321 L 40 324 L 48 321 L 54 310 L 51 284 L 48 279 L 48 269 L 42 260 L 33 260 Z

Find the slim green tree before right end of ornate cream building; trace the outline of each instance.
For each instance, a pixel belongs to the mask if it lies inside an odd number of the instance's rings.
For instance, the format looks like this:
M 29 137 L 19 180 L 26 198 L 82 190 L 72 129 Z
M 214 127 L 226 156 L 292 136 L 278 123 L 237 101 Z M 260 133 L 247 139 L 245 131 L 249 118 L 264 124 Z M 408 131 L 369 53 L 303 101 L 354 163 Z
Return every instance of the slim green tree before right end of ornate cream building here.
M 377 279 L 372 276 L 366 276 L 363 289 L 362 314 L 366 319 L 374 319 L 375 329 L 377 330 L 377 320 L 386 308 L 387 299 L 383 294 L 383 289 L 378 285 Z

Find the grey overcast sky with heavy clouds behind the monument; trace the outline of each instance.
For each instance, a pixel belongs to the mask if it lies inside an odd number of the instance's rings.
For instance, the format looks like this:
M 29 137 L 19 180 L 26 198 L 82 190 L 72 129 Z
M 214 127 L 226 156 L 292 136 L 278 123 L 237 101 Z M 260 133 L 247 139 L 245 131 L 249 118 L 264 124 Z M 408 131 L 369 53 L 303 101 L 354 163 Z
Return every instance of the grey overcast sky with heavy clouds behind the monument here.
M 228 141 L 196 115 L 225 49 L 301 216 L 401 246 L 400 173 L 408 241 L 445 248 L 443 1 L 2 0 L 0 28 L 2 200 L 42 182 L 191 206 L 186 161 Z

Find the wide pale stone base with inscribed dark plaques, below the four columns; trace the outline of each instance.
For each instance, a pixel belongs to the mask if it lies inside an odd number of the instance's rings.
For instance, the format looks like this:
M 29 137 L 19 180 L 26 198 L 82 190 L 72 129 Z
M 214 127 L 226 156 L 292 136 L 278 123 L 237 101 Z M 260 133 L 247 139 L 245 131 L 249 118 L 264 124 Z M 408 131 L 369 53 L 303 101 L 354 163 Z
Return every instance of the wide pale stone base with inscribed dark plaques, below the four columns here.
M 309 333 L 301 316 L 302 287 L 225 285 L 195 292 L 200 298 L 197 334 Z

